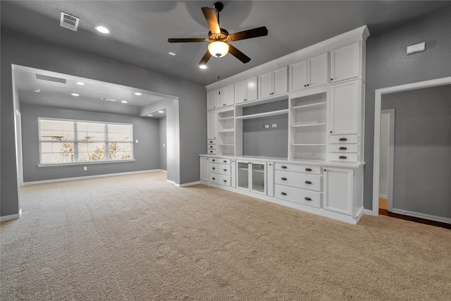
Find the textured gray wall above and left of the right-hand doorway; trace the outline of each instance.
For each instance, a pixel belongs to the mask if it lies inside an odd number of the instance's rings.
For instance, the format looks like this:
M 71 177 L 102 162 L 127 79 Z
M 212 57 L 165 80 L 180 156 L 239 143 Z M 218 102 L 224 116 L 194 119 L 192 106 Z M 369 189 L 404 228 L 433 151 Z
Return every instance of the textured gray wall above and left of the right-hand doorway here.
M 369 28 L 371 32 L 371 27 Z M 364 207 L 373 206 L 375 90 L 451 76 L 451 8 L 428 14 L 366 41 Z M 426 51 L 406 54 L 426 42 Z

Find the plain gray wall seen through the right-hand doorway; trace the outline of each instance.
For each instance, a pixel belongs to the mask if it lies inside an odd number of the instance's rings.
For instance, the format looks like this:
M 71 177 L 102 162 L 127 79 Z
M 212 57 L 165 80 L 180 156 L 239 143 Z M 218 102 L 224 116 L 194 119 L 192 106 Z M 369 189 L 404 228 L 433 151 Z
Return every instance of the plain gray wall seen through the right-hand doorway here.
M 383 95 L 391 108 L 393 208 L 451 219 L 451 85 Z

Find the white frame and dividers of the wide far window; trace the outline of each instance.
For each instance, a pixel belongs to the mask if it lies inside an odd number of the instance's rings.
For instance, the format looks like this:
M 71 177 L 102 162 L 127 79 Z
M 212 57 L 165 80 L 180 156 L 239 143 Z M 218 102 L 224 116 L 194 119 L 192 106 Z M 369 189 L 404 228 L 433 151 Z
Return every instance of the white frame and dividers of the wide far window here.
M 63 122 L 72 122 L 73 123 L 73 141 L 70 142 L 73 143 L 73 156 L 74 161 L 70 162 L 58 162 L 58 163 L 41 163 L 42 160 L 42 149 L 41 149 L 41 121 L 63 121 Z M 79 153 L 78 153 L 78 144 L 80 141 L 78 141 L 78 123 L 97 123 L 105 125 L 105 137 L 104 140 L 101 141 L 105 145 L 105 160 L 97 160 L 97 161 L 79 161 Z M 108 125 L 128 125 L 131 127 L 131 137 L 130 137 L 130 143 L 132 146 L 132 158 L 131 159 L 116 159 L 116 160 L 110 160 L 109 159 L 109 152 L 108 152 L 108 145 L 109 145 L 109 139 L 108 139 Z M 133 162 L 135 161 L 135 154 L 134 154 L 134 139 L 133 139 L 133 124 L 132 123 L 115 123 L 115 122 L 103 122 L 103 121 L 85 121 L 85 120 L 78 120 L 78 119 L 64 119 L 64 118 L 47 118 L 47 117 L 38 117 L 37 118 L 37 128 L 38 128 L 38 143 L 39 143 L 39 164 L 37 164 L 38 167 L 45 167 L 45 166 L 69 166 L 69 165 L 85 165 L 85 164 L 108 164 L 108 163 L 121 163 L 121 162 Z M 125 141 L 113 141 L 118 143 L 128 143 Z M 89 141 L 87 143 L 98 143 L 97 141 Z M 108 158 L 108 159 L 107 159 Z

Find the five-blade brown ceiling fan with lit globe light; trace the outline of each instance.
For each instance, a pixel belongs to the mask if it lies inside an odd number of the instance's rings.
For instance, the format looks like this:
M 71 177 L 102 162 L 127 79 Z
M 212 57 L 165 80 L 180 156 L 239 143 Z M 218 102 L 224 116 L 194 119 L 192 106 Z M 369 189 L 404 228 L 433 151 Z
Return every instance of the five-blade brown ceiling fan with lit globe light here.
M 257 27 L 252 30 L 244 30 L 241 32 L 235 32 L 229 34 L 227 30 L 219 27 L 219 13 L 223 10 L 224 6 L 221 2 L 216 2 L 213 8 L 202 7 L 206 23 L 208 23 L 210 31 L 209 38 L 180 38 L 180 39 L 168 39 L 169 43 L 189 43 L 189 42 L 206 42 L 209 41 L 209 49 L 204 54 L 204 57 L 199 62 L 199 66 L 206 66 L 206 62 L 209 61 L 211 56 L 217 56 L 218 58 L 225 56 L 230 52 L 235 58 L 239 59 L 243 63 L 249 62 L 251 59 L 246 54 L 243 54 L 240 50 L 228 44 L 229 41 L 235 42 L 240 39 L 250 39 L 252 37 L 263 37 L 268 35 L 268 29 L 265 26 Z M 216 12 L 218 18 L 216 18 Z

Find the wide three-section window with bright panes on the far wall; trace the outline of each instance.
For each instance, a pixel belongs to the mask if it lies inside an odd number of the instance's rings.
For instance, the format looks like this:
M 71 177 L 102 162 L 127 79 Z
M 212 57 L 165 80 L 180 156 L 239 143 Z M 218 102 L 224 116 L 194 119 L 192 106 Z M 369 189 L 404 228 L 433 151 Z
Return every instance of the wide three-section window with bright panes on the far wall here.
M 133 159 L 133 125 L 38 118 L 39 163 Z

